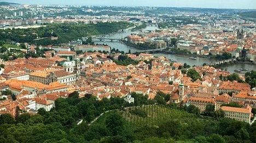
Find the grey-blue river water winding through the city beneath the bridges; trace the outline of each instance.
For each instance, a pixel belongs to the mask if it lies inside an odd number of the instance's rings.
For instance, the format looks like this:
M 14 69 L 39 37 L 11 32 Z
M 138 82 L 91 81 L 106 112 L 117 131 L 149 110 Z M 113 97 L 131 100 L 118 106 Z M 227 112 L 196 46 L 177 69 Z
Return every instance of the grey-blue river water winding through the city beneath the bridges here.
M 158 29 L 158 27 L 147 27 L 145 30 L 155 30 Z M 106 38 L 112 38 L 112 39 L 122 39 L 125 38 L 127 35 L 136 33 L 138 34 L 139 32 L 124 32 L 122 34 L 115 34 L 115 35 L 110 35 L 107 36 Z M 120 42 L 110 42 L 110 41 L 98 41 L 96 39 L 94 39 L 95 43 L 98 44 L 107 44 L 108 46 L 115 48 L 115 49 L 119 49 L 119 51 L 124 51 L 124 52 L 129 52 L 129 50 L 133 53 L 138 51 L 138 49 L 135 49 L 133 47 L 130 46 L 126 46 L 123 43 Z M 216 61 L 215 59 L 211 59 L 211 58 L 201 58 L 201 57 L 197 57 L 197 60 L 191 60 L 189 59 L 189 57 L 186 57 L 184 55 L 177 55 L 177 54 L 163 54 L 163 53 L 156 53 L 154 54 L 156 57 L 160 57 L 160 56 L 164 56 L 168 59 L 173 59 L 174 61 L 177 61 L 179 63 L 187 63 L 191 66 L 193 65 L 202 65 L 203 63 L 208 63 L 211 64 L 212 62 Z M 256 65 L 250 65 L 250 64 L 233 64 L 233 65 L 227 65 L 226 67 L 223 67 L 223 69 L 226 69 L 227 71 L 234 73 L 234 70 L 239 70 L 239 69 L 248 69 L 248 70 L 256 70 Z

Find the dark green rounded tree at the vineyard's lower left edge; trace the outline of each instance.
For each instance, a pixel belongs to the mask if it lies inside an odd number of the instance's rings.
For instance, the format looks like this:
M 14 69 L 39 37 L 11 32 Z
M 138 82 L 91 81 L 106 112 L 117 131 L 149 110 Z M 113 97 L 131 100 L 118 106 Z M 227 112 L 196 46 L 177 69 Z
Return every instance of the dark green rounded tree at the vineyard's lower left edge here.
M 124 130 L 124 119 L 117 112 L 111 113 L 106 117 L 106 127 L 112 135 L 121 135 Z

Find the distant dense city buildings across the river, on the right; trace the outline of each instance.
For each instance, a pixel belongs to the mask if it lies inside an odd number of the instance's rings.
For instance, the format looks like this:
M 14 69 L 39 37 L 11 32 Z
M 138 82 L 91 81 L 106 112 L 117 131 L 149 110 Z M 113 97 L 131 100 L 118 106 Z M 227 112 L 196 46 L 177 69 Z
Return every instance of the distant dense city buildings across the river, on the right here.
M 254 62 L 256 58 L 256 25 L 241 18 L 199 17 L 196 24 L 166 27 L 150 32 L 141 31 L 127 37 L 127 42 L 153 44 L 156 48 L 172 47 L 197 55 L 222 55 Z M 173 41 L 174 40 L 174 41 Z

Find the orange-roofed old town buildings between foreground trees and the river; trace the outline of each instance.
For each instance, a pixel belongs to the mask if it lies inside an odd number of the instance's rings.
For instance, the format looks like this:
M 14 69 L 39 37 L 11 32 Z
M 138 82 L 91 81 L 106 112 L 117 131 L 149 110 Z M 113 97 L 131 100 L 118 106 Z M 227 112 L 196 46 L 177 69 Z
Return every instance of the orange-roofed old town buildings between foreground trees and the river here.
M 16 100 L 13 101 L 10 95 L 2 95 L 4 100 L 0 101 L 0 113 L 14 116 L 17 106 L 32 113 L 39 108 L 49 111 L 57 98 L 66 98 L 74 91 L 79 92 L 79 97 L 91 95 L 98 100 L 125 97 L 125 101 L 130 103 L 134 102 L 131 92 L 152 99 L 158 91 L 162 91 L 171 95 L 168 103 L 193 104 L 201 111 L 205 110 L 207 104 L 213 104 L 216 110 L 225 112 L 225 117 L 251 121 L 252 108 L 256 107 L 256 90 L 251 90 L 247 83 L 223 82 L 219 79 L 220 75 L 225 77 L 229 72 L 210 66 L 196 66 L 193 69 L 199 72 L 202 80 L 193 82 L 187 74 L 178 70 L 183 64 L 174 63 L 171 66 L 171 61 L 165 57 L 155 58 L 145 53 L 127 54 L 127 57 L 139 60 L 139 63 L 121 66 L 109 59 L 109 56 L 118 59 L 119 55 L 85 52 L 75 55 L 73 60 L 56 54 L 48 58 L 2 61 L 5 68 L 1 74 L 0 88 L 2 91 L 10 90 Z M 145 63 L 144 60 L 152 62 Z M 237 102 L 244 108 L 222 106 L 231 102 Z

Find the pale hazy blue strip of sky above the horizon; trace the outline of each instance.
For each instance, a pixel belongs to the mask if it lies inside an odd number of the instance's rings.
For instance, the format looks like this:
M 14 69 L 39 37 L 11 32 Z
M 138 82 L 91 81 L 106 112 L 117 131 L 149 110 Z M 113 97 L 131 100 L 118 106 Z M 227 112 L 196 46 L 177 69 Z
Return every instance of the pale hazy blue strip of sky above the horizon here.
M 5 0 L 21 4 L 113 5 L 256 9 L 256 0 Z

